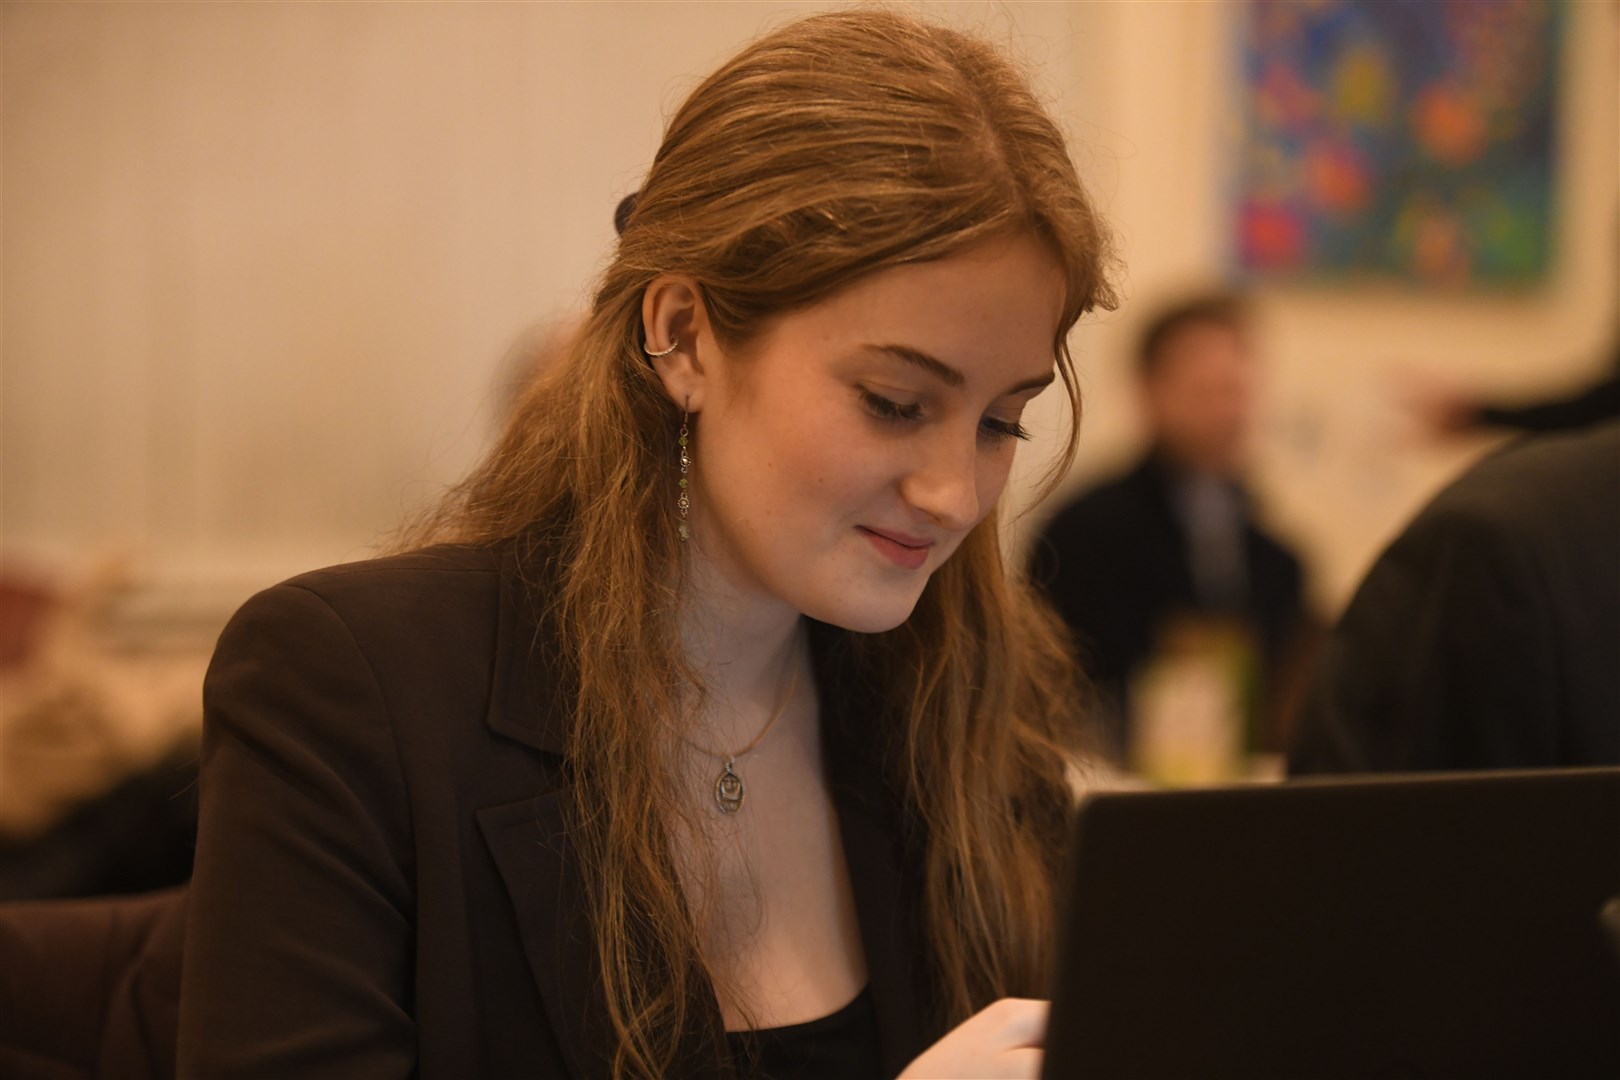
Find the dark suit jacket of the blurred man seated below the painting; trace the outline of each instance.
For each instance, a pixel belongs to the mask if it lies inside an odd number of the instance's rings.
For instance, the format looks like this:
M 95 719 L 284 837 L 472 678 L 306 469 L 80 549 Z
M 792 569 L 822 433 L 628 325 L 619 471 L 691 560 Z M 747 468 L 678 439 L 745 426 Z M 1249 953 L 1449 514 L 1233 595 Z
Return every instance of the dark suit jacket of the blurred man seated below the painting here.
M 1210 614 L 1192 583 L 1186 528 L 1171 505 L 1173 478 L 1155 455 L 1068 504 L 1030 551 L 1030 580 L 1074 630 L 1087 675 L 1116 704 L 1149 659 L 1165 620 Z M 1275 672 L 1304 625 L 1299 560 L 1251 518 L 1244 523 L 1249 588 L 1238 615 Z

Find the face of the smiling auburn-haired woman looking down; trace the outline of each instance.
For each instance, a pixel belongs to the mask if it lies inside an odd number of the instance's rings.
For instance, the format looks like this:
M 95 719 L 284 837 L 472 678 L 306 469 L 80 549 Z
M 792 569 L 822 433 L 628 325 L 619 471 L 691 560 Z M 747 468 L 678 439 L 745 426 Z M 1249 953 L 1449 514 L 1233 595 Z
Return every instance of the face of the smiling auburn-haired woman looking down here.
M 697 551 L 744 602 L 857 631 L 910 615 L 1008 479 L 1064 300 L 1034 238 L 867 277 L 729 356 L 692 421 Z

